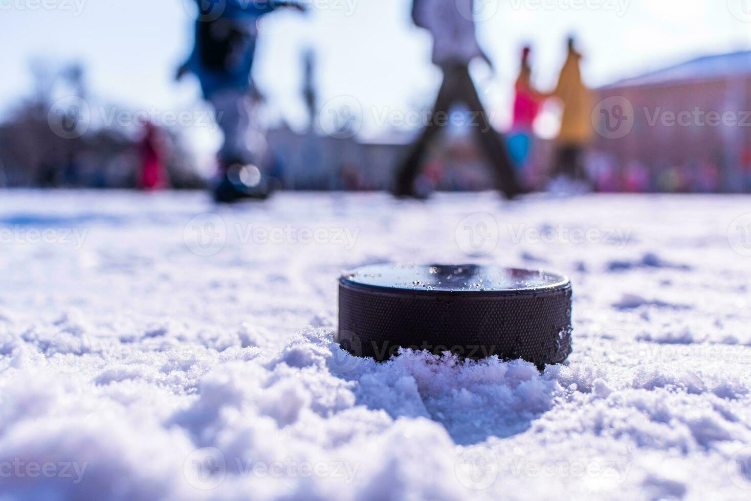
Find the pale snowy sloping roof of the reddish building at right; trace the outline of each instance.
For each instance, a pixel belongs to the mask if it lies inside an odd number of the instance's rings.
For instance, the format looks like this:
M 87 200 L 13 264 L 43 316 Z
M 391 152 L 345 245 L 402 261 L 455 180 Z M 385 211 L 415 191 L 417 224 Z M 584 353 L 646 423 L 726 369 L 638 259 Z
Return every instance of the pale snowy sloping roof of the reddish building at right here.
M 738 75 L 751 76 L 751 50 L 704 55 L 679 65 L 611 83 L 603 89 L 689 83 Z

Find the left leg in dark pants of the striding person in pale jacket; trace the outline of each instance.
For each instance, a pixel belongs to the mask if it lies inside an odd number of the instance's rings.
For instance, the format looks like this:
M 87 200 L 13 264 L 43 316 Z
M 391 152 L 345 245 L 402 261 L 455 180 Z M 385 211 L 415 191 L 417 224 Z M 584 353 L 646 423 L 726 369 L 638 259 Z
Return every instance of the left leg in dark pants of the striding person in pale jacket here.
M 396 185 L 394 187 L 394 192 L 397 195 L 411 195 L 413 193 L 414 188 L 412 184 L 415 183 L 415 178 L 417 178 L 420 172 L 422 157 L 433 136 L 445 127 L 448 110 L 454 101 L 454 94 L 453 72 L 445 70 L 443 83 L 441 84 L 441 89 L 439 89 L 433 111 L 430 112 L 430 116 L 428 117 L 427 124 L 425 124 L 421 136 L 412 144 L 405 160 L 403 160 L 397 169 Z

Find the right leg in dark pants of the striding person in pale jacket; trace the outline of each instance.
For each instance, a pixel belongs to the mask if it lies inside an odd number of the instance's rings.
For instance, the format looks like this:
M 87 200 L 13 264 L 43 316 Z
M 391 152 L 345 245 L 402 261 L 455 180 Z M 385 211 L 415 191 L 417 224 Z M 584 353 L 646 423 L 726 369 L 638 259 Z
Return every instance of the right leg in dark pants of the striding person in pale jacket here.
M 485 150 L 487 160 L 493 166 L 493 174 L 496 178 L 498 189 L 509 198 L 522 193 L 522 189 L 514 175 L 514 167 L 508 156 L 508 149 L 502 134 L 498 133 L 490 124 L 482 102 L 477 95 L 475 84 L 469 76 L 469 68 L 457 75 L 457 85 L 461 100 L 469 107 L 472 118 L 475 118 L 475 135 L 480 140 L 481 147 Z

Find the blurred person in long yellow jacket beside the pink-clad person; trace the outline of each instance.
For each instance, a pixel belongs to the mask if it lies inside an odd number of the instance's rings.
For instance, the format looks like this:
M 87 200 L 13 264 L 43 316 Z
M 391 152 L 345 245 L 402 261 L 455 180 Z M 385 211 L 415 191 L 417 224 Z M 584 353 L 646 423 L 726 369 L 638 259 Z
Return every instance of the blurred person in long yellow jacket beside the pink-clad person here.
M 582 153 L 593 136 L 591 95 L 581 80 L 581 53 L 575 49 L 574 38 L 569 37 L 567 43 L 569 54 L 561 68 L 558 85 L 550 94 L 558 98 L 563 107 L 553 174 L 587 181 Z

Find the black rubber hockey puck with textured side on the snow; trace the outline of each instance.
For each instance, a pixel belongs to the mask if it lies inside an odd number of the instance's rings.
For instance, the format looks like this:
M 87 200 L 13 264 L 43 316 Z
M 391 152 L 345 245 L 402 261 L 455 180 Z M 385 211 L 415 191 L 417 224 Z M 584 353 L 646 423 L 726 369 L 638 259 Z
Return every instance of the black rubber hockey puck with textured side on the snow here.
M 476 265 L 375 265 L 339 279 L 337 340 L 384 361 L 400 347 L 439 355 L 566 360 L 572 287 L 542 270 Z

